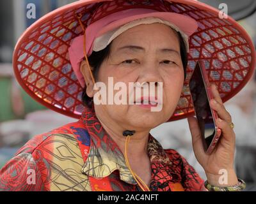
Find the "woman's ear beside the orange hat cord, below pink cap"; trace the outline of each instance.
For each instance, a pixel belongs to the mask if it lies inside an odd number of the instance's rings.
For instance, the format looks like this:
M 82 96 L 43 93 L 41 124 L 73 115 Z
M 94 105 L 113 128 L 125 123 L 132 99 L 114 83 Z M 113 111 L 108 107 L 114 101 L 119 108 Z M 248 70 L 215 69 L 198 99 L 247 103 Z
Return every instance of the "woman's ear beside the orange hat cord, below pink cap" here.
M 88 64 L 86 61 L 82 61 L 80 64 L 80 71 L 83 74 L 84 77 L 84 81 L 85 81 L 85 85 L 86 85 L 86 94 L 87 96 L 89 96 L 90 98 L 93 98 L 93 80 L 92 80 L 92 76 L 90 74 L 89 71 Z M 91 69 L 92 70 L 92 69 Z

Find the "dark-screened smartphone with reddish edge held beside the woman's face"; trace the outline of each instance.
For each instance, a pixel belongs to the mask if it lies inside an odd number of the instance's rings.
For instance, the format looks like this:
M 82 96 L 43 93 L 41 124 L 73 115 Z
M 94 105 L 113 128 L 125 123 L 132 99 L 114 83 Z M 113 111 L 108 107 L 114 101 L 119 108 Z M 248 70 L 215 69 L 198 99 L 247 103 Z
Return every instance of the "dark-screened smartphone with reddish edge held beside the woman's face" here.
M 213 98 L 204 61 L 198 61 L 189 80 L 189 88 L 200 128 L 204 150 L 211 154 L 221 136 L 221 129 L 216 126 L 218 113 L 213 110 L 209 101 Z

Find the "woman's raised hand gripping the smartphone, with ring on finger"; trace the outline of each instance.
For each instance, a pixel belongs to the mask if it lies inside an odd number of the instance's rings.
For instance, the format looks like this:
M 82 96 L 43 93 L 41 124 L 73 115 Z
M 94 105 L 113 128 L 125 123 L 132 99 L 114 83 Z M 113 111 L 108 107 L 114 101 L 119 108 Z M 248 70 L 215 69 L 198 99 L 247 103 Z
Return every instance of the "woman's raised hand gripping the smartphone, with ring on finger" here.
M 237 176 L 234 170 L 234 152 L 236 135 L 230 127 L 232 122 L 230 114 L 225 109 L 220 94 L 215 85 L 211 85 L 214 99 L 210 101 L 212 109 L 216 110 L 220 117 L 216 125 L 221 129 L 221 137 L 211 154 L 204 151 L 200 129 L 195 117 L 188 117 L 189 129 L 192 135 L 193 150 L 196 159 L 202 165 L 209 184 L 213 186 L 233 186 L 237 184 Z M 227 175 L 223 175 L 227 173 Z M 227 183 L 220 182 L 220 178 L 227 176 Z

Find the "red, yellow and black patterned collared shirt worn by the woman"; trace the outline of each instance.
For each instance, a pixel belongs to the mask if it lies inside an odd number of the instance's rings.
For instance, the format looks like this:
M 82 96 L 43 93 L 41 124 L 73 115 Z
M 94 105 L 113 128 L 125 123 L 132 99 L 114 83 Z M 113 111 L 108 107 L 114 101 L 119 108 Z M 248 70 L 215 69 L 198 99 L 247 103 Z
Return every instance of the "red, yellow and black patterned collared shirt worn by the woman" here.
M 184 157 L 149 135 L 150 191 L 204 191 Z M 0 170 L 0 191 L 140 191 L 124 155 L 93 110 L 35 136 Z

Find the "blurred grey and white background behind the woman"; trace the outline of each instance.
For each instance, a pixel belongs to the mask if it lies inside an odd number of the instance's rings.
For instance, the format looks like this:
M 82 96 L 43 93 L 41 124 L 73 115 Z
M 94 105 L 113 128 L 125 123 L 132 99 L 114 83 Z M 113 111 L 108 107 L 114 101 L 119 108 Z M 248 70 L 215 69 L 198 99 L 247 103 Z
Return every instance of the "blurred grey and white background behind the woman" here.
M 74 0 L 3 0 L 0 1 L 0 168 L 30 138 L 63 126 L 76 119 L 47 110 L 31 99 L 17 84 L 12 69 L 15 43 L 24 30 L 49 11 Z M 218 8 L 228 6 L 228 15 L 235 18 L 256 44 L 256 1 L 202 1 Z M 29 3 L 36 5 L 36 18 L 26 18 Z M 247 191 L 256 191 L 256 77 L 234 98 L 225 103 L 232 115 L 236 132 L 237 176 L 246 181 Z M 186 119 L 168 122 L 152 129 L 152 135 L 164 148 L 177 150 L 205 178 L 204 170 L 193 154 L 191 134 Z

